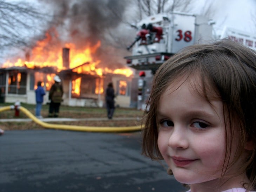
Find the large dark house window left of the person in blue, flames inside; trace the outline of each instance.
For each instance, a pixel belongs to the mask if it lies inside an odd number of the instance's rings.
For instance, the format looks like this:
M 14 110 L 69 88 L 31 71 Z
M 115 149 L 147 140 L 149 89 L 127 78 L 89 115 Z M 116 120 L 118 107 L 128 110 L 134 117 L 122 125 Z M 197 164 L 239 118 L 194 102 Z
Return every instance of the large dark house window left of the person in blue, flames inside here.
M 8 78 L 8 94 L 26 94 L 27 73 L 10 71 Z

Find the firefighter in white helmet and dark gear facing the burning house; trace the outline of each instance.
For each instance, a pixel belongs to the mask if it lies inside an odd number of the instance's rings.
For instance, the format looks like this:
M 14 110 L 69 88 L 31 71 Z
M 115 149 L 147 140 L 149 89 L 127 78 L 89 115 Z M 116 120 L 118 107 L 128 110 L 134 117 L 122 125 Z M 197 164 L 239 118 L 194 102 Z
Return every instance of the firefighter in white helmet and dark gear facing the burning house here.
M 54 77 L 54 84 L 50 88 L 50 92 L 49 92 L 50 107 L 49 107 L 48 117 L 59 116 L 60 104 L 62 102 L 62 95 L 63 95 L 63 87 L 60 82 L 61 82 L 60 77 L 56 75 Z

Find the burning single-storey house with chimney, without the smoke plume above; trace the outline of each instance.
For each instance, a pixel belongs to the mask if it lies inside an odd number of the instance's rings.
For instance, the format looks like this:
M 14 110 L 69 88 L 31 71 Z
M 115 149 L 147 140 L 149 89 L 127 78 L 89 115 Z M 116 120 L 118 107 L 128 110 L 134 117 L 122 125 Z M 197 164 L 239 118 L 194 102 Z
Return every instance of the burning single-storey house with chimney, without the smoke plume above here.
M 80 55 L 81 59 L 81 55 Z M 87 55 L 88 60 L 88 55 Z M 2 102 L 35 104 L 36 84 L 42 82 L 46 90 L 45 103 L 48 92 L 54 83 L 54 76 L 59 75 L 64 89 L 63 105 L 103 107 L 105 100 L 104 89 L 109 82 L 113 82 L 116 91 L 116 105 L 130 107 L 130 86 L 133 71 L 130 69 L 101 69 L 95 62 L 85 62 L 70 67 L 69 49 L 62 49 L 62 66 L 55 64 L 45 67 L 36 66 L 33 62 L 18 61 L 5 63 L 0 69 L 0 90 Z M 61 66 L 61 68 L 60 68 Z

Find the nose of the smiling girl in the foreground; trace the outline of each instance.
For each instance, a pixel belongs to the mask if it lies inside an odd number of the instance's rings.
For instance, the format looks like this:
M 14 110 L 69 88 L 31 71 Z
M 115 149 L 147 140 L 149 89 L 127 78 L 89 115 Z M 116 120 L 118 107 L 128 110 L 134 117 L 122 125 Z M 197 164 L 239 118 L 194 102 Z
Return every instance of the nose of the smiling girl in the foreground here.
M 187 149 L 188 145 L 187 129 L 180 126 L 174 126 L 168 140 L 168 146 L 173 149 Z

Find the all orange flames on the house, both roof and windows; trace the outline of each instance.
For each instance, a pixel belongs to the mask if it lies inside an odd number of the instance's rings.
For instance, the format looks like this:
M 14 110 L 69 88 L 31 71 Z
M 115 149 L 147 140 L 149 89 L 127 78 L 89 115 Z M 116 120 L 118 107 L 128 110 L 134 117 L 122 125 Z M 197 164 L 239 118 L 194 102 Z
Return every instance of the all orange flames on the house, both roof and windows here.
M 35 47 L 31 50 L 30 53 L 26 53 L 26 59 L 18 58 L 16 62 L 6 61 L 2 67 L 27 67 L 27 68 L 43 68 L 43 67 L 52 67 L 56 72 L 61 70 L 72 69 L 75 73 L 83 73 L 90 75 L 97 75 L 99 78 L 96 80 L 95 84 L 95 93 L 103 93 L 103 74 L 122 74 L 127 77 L 133 74 L 133 71 L 129 68 L 123 69 L 109 69 L 109 68 L 100 68 L 100 63 L 104 62 L 97 60 L 93 57 L 96 51 L 101 47 L 101 41 L 98 41 L 96 44 L 91 45 L 86 43 L 87 46 L 82 49 L 76 48 L 73 43 L 66 43 L 65 47 L 69 49 L 69 66 L 63 65 L 63 55 L 62 55 L 62 46 L 60 43 L 55 43 L 58 33 L 55 29 L 50 29 L 45 34 L 45 39 L 37 41 Z M 58 41 L 57 41 L 58 42 Z M 54 45 L 54 46 L 53 46 Z M 49 90 L 51 85 L 54 83 L 53 77 L 56 74 L 45 74 L 41 72 L 35 72 L 35 85 L 34 89 L 37 88 L 37 82 L 45 82 L 46 90 Z M 18 76 L 17 78 L 20 78 Z M 15 77 L 13 77 L 15 78 Z M 11 80 L 9 80 L 11 81 Z M 18 82 L 20 79 L 18 80 Z M 42 83 L 42 85 L 44 85 Z M 81 77 L 72 81 L 72 94 L 80 95 L 80 86 Z

